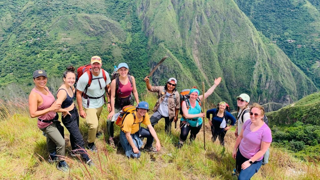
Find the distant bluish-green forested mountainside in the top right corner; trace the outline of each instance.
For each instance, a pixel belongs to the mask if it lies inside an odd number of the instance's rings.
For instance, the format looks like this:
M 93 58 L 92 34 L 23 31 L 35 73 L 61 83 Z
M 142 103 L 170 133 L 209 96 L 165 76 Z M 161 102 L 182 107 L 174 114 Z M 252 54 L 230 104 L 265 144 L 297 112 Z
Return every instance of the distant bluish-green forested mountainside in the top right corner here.
M 318 0 L 235 0 L 257 30 L 279 46 L 320 87 Z M 293 41 L 290 41 L 293 40 Z

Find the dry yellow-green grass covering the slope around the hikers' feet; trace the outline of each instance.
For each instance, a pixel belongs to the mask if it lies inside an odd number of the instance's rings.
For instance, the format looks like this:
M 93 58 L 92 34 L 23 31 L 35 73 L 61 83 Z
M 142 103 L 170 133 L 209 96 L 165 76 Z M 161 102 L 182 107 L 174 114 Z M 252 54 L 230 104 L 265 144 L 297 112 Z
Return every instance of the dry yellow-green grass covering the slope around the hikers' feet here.
M 146 93 L 141 100 L 155 102 L 156 96 Z M 106 110 L 100 120 L 100 128 L 105 134 L 96 140 L 98 152 L 88 152 L 95 167 L 88 167 L 81 159 L 70 156 L 69 134 L 65 129 L 65 159 L 71 170 L 70 173 L 63 173 L 56 169 L 57 164 L 47 162 L 45 137 L 37 128 L 36 119 L 29 117 L 26 101 L 21 102 L 1 102 L 0 105 L 3 108 L 0 121 L 0 179 L 236 179 L 231 176 L 235 168 L 231 157 L 235 143 L 232 131 L 226 135 L 225 148 L 218 141 L 210 141 L 211 133 L 209 125 L 206 125 L 206 150 L 203 149 L 203 131 L 194 142 L 187 141 L 181 149 L 177 149 L 175 143 L 179 139 L 179 129 L 172 127 L 172 133 L 168 135 L 164 132 L 164 120 L 160 120 L 155 129 L 162 145 L 161 151 L 157 154 L 142 152 L 139 159 L 128 159 L 121 147 L 114 149 L 105 141 L 108 138 Z M 150 109 L 153 106 L 150 103 Z M 86 140 L 88 127 L 85 119 L 80 121 L 80 130 Z M 119 127 L 115 130 L 118 137 Z M 252 179 L 315 180 L 319 179 L 319 174 L 318 164 L 301 162 L 284 151 L 271 148 L 269 163 L 262 166 Z

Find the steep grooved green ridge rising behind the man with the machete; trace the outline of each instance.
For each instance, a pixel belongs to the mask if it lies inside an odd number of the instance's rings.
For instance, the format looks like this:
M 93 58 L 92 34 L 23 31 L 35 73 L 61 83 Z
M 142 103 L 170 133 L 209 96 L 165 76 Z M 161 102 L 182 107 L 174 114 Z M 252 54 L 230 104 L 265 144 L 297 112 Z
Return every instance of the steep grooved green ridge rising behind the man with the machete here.
M 252 102 L 288 104 L 316 91 L 233 1 L 141 0 L 137 6 L 149 39 L 151 64 L 167 50 L 171 55 L 170 62 L 153 75 L 155 84 L 176 77 L 180 89 L 199 86 L 201 81 L 208 88 L 221 76 L 214 101 L 230 104 L 241 93 L 250 94 Z

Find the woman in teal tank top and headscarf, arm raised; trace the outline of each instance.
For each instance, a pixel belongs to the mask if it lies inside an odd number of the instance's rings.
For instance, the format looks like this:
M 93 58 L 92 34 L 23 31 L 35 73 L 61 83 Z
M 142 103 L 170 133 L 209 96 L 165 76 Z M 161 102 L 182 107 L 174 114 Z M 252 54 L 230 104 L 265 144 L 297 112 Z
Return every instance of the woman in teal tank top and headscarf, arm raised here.
M 204 97 L 207 98 L 210 94 L 213 93 L 214 89 L 219 85 L 221 77 L 214 80 L 214 85 L 204 93 Z M 200 95 L 198 89 L 191 89 L 189 92 L 189 109 L 187 108 L 186 102 L 182 102 L 182 112 L 183 116 L 180 119 L 180 139 L 178 143 L 178 148 L 180 148 L 183 143 L 187 140 L 188 134 L 190 132 L 190 141 L 196 139 L 196 135 L 199 133 L 202 127 L 202 121 L 205 117 L 205 113 L 201 112 L 201 106 L 196 100 L 197 98 L 200 101 L 203 100 L 203 95 Z

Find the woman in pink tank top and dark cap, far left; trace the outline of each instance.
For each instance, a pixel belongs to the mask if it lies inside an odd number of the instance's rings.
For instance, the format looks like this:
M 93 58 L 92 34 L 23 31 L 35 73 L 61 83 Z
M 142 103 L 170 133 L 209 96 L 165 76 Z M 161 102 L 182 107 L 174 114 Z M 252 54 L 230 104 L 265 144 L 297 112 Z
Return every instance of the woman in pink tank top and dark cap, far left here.
M 68 164 L 59 159 L 65 156 L 65 141 L 57 129 L 59 116 L 57 112 L 65 112 L 61 109 L 61 104 L 57 104 L 47 84 L 47 74 L 44 70 L 36 70 L 33 73 L 35 87 L 29 95 L 29 112 L 31 118 L 38 118 L 37 125 L 47 137 L 47 148 L 49 150 L 48 162 L 59 161 L 57 169 L 68 171 Z M 57 156 L 58 155 L 58 156 Z

